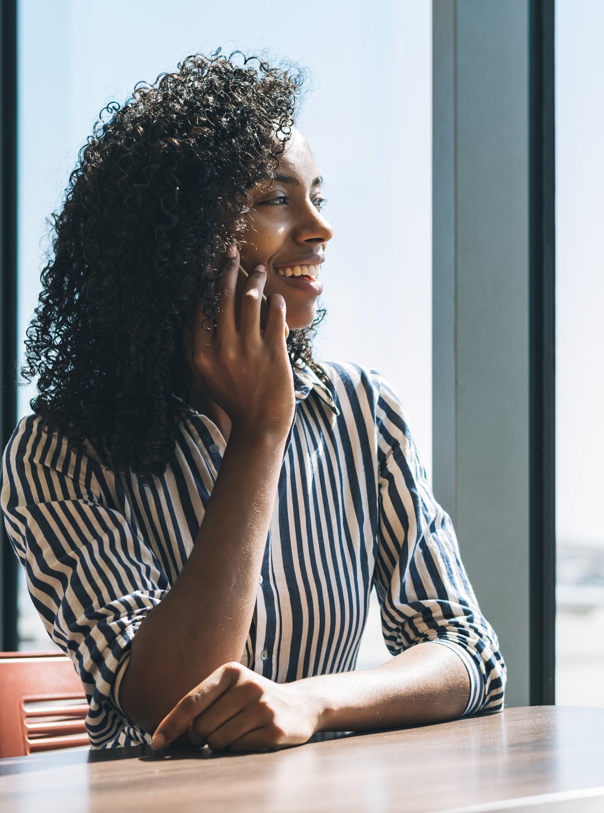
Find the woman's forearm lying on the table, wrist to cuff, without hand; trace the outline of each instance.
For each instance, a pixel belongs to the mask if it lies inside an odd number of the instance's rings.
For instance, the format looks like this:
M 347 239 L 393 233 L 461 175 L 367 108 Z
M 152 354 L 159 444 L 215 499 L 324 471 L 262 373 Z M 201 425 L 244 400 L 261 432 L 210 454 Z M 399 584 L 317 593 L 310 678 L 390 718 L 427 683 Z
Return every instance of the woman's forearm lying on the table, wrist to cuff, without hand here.
M 316 731 L 361 731 L 453 720 L 463 714 L 470 677 L 447 646 L 411 646 L 388 663 L 300 680 L 319 711 Z

